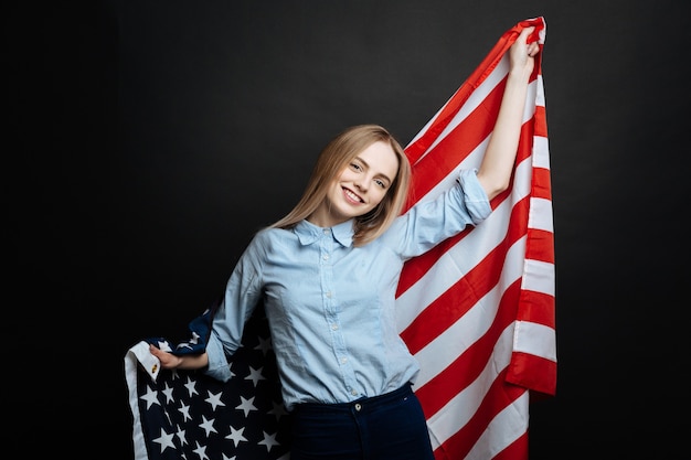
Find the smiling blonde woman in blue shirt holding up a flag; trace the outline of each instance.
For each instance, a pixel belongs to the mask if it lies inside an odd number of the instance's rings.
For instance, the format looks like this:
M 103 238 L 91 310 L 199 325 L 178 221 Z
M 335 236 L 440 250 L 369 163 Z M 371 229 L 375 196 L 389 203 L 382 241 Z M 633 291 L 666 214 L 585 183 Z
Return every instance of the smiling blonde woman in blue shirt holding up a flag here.
M 478 170 L 461 171 L 437 200 L 401 214 L 411 165 L 382 127 L 362 125 L 320 153 L 295 208 L 259 231 L 237 261 L 206 351 L 176 356 L 151 346 L 164 368 L 231 377 L 226 356 L 263 302 L 293 414 L 291 460 L 433 460 L 411 385 L 418 364 L 396 331 L 394 300 L 404 263 L 477 225 L 510 182 L 538 43 L 524 29 Z

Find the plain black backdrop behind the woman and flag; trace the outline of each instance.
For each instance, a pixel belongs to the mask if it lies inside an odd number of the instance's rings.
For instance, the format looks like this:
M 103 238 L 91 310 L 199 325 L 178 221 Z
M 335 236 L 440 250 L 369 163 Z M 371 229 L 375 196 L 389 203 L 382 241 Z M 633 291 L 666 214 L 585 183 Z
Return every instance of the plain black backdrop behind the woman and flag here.
M 506 30 L 542 15 L 559 376 L 531 406 L 531 460 L 688 458 L 685 2 L 3 10 L 18 453 L 131 458 L 127 350 L 216 298 L 328 139 L 378 122 L 407 143 Z

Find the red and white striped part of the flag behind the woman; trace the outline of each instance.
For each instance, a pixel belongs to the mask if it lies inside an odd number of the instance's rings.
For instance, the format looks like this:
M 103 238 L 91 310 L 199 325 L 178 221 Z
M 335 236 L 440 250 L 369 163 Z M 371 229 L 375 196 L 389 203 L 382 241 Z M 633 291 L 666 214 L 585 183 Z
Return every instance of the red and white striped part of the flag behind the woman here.
M 508 30 L 480 66 L 406 147 L 408 205 L 478 167 L 509 69 Z M 415 384 L 437 460 L 528 458 L 529 394 L 554 395 L 554 238 L 542 51 L 528 92 L 511 188 L 480 225 L 404 267 L 398 330 L 422 371 Z

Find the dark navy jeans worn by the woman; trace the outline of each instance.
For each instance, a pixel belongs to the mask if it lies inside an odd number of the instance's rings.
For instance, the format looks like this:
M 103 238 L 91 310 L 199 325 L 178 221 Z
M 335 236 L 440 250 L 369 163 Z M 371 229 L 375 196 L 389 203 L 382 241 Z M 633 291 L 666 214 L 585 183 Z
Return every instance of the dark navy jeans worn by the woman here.
M 427 424 L 410 385 L 343 404 L 293 411 L 290 460 L 434 460 Z

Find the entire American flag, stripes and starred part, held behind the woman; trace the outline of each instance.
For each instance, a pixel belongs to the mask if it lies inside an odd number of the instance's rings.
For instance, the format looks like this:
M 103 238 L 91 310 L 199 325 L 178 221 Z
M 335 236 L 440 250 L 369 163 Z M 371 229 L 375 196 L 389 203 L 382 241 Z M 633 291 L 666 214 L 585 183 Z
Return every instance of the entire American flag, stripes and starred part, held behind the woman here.
M 487 221 L 410 260 L 398 284 L 398 330 L 421 363 L 414 389 L 437 460 L 528 459 L 531 396 L 556 391 L 543 18 L 504 32 L 406 147 L 414 169 L 408 206 L 451 186 L 459 169 L 479 165 L 509 69 L 507 51 L 530 25 L 541 53 L 511 188 L 492 200 Z M 194 319 L 174 346 L 147 339 L 126 354 L 135 460 L 289 459 L 290 417 L 263 309 L 249 320 L 225 384 L 161 371 L 148 352 L 149 343 L 174 353 L 203 350 L 213 311 Z

